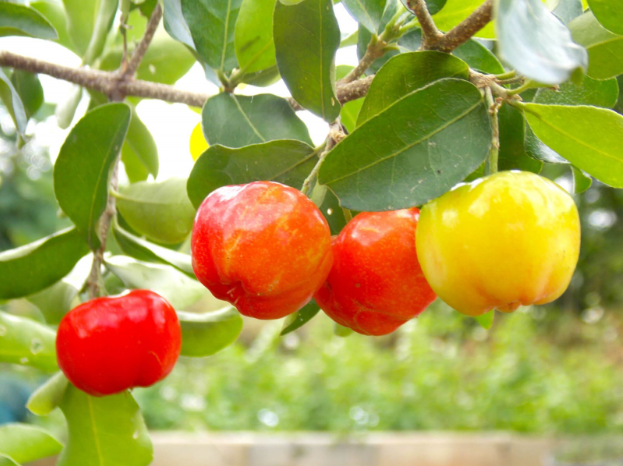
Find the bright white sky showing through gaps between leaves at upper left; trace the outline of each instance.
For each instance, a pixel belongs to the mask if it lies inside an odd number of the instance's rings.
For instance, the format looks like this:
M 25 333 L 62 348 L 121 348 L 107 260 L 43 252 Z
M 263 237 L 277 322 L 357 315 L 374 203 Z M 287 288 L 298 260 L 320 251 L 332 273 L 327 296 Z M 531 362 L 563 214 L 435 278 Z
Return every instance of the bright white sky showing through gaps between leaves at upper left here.
M 335 5 L 335 15 L 343 36 L 349 35 L 357 29 L 357 23 L 349 16 L 341 3 Z M 78 67 L 80 65 L 80 57 L 63 46 L 50 41 L 27 37 L 2 37 L 0 38 L 0 50 L 10 50 L 13 53 L 70 67 Z M 356 65 L 357 52 L 355 46 L 340 49 L 337 53 L 336 64 Z M 62 102 L 71 88 L 70 83 L 46 75 L 39 75 L 39 79 L 44 88 L 46 102 L 56 104 Z M 216 94 L 218 92 L 217 87 L 205 79 L 199 64 L 195 64 L 175 84 L 175 87 L 208 94 Z M 282 97 L 290 95 L 283 81 L 264 88 L 246 86 L 238 92 L 245 95 L 261 93 L 272 93 Z M 87 105 L 88 100 L 86 97 L 83 97 L 72 126 L 84 115 Z M 190 133 L 200 122 L 200 115 L 190 110 L 186 105 L 170 104 L 158 100 L 141 101 L 137 106 L 137 112 L 143 123 L 151 131 L 158 146 L 160 171 L 157 180 L 162 181 L 171 177 L 187 177 L 193 166 L 189 150 Z M 319 144 L 326 138 L 328 126 L 324 121 L 307 111 L 298 112 L 298 116 L 307 124 L 314 143 Z M 0 119 L 0 124 L 4 129 L 10 131 L 12 121 L 8 118 L 8 115 L 5 115 L 4 118 Z M 52 162 L 58 156 L 60 147 L 69 130 L 70 128 L 67 130 L 60 129 L 55 117 L 50 117 L 45 122 L 29 128 L 29 131 L 35 134 L 38 143 L 49 147 Z M 122 183 L 126 181 L 124 175 L 122 173 L 120 180 Z

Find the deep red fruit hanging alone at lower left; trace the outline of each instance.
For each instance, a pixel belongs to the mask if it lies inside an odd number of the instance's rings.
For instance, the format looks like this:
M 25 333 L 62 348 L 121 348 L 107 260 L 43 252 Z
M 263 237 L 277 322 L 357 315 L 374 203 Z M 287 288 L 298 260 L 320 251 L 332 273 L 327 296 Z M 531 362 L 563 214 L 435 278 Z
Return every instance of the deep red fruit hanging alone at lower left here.
M 58 328 L 56 353 L 72 384 L 104 396 L 164 379 L 181 341 L 173 307 L 153 291 L 134 290 L 69 311 Z

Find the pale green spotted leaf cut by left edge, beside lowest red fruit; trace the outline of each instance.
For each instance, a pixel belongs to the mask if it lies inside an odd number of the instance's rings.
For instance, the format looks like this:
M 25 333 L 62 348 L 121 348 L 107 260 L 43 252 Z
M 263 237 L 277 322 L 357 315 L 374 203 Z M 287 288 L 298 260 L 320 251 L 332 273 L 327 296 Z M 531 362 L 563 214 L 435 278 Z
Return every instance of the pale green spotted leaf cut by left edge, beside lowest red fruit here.
M 56 333 L 45 325 L 0 312 L 1 362 L 57 371 L 55 340 Z

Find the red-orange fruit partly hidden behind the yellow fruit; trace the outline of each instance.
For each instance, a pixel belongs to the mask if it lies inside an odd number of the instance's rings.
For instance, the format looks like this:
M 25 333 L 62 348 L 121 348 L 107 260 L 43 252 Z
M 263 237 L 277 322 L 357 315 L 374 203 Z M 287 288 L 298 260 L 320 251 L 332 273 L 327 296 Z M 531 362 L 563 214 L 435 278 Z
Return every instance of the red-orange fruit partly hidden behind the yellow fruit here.
M 435 300 L 415 251 L 418 218 L 416 208 L 364 212 L 344 227 L 314 296 L 329 317 L 364 335 L 386 335 Z

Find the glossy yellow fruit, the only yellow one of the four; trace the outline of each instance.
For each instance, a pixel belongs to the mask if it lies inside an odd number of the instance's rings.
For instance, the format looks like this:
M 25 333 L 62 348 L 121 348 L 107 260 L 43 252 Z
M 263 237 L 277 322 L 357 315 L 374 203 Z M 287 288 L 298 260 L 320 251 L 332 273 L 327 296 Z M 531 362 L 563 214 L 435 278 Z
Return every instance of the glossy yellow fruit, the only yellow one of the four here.
M 424 206 L 417 250 L 433 290 L 463 314 L 549 303 L 578 261 L 578 210 L 542 176 L 499 172 Z

